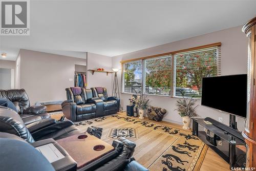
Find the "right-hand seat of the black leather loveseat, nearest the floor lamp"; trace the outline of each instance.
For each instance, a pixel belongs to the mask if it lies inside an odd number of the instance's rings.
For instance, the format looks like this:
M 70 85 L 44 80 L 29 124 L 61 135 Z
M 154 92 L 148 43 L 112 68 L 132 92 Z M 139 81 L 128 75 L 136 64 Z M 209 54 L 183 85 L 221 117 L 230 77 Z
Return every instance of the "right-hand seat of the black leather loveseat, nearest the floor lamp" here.
M 106 92 L 106 88 L 96 87 L 91 88 L 93 91 L 93 97 L 103 100 L 103 111 L 102 116 L 111 115 L 119 112 L 120 99 L 116 97 L 109 97 Z

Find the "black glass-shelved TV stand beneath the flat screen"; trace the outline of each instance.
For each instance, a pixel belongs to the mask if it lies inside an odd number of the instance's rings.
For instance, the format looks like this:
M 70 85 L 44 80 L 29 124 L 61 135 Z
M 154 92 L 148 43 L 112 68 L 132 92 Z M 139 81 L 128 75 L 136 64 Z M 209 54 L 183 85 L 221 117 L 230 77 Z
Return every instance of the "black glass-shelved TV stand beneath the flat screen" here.
M 240 132 L 209 117 L 193 118 L 193 135 L 220 155 L 231 167 L 245 167 L 245 141 Z M 208 124 L 207 122 L 210 122 Z M 199 130 L 199 125 L 206 131 Z

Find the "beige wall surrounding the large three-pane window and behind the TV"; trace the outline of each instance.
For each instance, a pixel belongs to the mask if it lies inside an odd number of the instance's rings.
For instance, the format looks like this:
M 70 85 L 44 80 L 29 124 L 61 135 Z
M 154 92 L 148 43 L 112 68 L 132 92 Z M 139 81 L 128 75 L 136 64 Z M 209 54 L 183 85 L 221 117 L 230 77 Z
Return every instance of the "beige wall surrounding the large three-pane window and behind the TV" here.
M 245 34 L 242 33 L 241 28 L 241 26 L 234 27 L 230 29 L 200 35 L 197 37 L 175 41 L 169 44 L 153 48 L 148 48 L 124 55 L 115 56 L 113 57 L 112 66 L 113 68 L 121 69 L 121 60 L 172 52 L 176 50 L 207 45 L 215 42 L 221 42 L 221 74 L 230 75 L 247 73 L 247 38 Z M 118 73 L 118 77 L 119 82 L 121 82 L 121 72 Z M 129 103 L 128 99 L 130 97 L 130 94 L 121 94 L 121 106 L 124 109 L 126 108 L 126 105 Z M 148 97 L 151 100 L 151 105 L 160 106 L 168 111 L 167 115 L 165 115 L 164 117 L 164 120 L 181 124 L 181 117 L 178 115 L 177 111 L 174 111 L 174 109 L 176 108 L 176 101 L 178 100 L 177 98 L 159 96 Z M 201 101 L 198 100 L 197 103 L 201 104 Z M 201 105 L 198 106 L 197 113 L 202 118 L 211 117 L 213 119 L 218 120 L 218 117 L 222 117 L 224 123 L 228 124 L 229 122 L 229 115 L 220 113 L 216 110 L 212 110 Z M 239 129 L 243 130 L 244 119 L 238 118 L 238 122 Z

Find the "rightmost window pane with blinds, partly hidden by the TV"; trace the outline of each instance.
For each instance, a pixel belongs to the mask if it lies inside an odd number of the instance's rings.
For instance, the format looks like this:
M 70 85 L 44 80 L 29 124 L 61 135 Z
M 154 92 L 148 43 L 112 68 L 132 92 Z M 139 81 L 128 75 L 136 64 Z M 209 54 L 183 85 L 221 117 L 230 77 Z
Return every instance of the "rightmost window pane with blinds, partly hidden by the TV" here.
M 201 98 L 203 77 L 220 74 L 219 48 L 208 48 L 176 54 L 175 96 Z

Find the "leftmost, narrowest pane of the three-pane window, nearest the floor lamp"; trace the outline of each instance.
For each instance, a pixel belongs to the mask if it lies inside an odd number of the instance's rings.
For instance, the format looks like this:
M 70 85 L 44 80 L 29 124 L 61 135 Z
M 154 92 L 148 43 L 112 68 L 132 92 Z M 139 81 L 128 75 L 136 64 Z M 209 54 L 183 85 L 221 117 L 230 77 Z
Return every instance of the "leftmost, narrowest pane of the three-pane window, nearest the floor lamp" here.
M 123 93 L 141 94 L 142 60 L 123 63 Z

